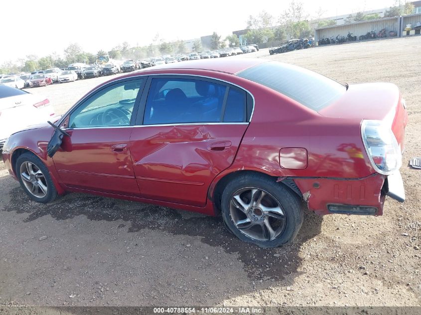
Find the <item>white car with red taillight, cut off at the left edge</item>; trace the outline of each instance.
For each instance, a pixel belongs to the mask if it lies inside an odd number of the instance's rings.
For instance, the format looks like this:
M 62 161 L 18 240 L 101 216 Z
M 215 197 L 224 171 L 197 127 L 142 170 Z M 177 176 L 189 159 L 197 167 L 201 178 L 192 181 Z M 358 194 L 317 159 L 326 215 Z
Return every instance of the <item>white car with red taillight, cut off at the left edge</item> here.
M 0 151 L 12 133 L 57 118 L 47 98 L 0 84 Z

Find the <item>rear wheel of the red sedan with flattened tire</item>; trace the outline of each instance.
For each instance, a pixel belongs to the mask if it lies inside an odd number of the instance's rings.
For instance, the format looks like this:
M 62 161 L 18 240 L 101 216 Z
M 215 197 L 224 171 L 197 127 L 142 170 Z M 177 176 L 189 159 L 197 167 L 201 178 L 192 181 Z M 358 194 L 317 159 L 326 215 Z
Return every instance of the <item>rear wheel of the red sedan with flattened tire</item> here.
M 224 222 L 234 235 L 263 248 L 292 241 L 303 221 L 298 196 L 263 174 L 243 174 L 228 183 L 221 209 Z

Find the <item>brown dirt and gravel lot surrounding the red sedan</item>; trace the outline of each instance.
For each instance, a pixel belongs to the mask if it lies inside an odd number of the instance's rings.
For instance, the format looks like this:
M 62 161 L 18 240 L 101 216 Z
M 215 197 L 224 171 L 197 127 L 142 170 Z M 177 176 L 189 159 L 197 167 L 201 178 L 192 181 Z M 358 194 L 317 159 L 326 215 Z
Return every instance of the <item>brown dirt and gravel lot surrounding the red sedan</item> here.
M 1 163 L 0 305 L 420 306 L 421 171 L 408 166 L 421 155 L 420 48 L 419 36 L 247 56 L 397 84 L 410 114 L 404 204 L 388 199 L 381 217 L 307 212 L 293 244 L 268 250 L 181 210 L 78 194 L 36 204 Z M 108 79 L 31 92 L 63 113 Z

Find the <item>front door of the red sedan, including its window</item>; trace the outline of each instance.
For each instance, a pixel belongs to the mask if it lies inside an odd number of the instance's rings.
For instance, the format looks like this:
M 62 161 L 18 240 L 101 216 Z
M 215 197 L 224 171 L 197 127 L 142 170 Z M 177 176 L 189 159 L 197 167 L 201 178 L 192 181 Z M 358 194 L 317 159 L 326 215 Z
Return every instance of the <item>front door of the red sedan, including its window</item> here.
M 66 117 L 65 136 L 53 157 L 60 181 L 68 187 L 139 195 L 130 158 L 132 113 L 143 79 L 106 86 Z

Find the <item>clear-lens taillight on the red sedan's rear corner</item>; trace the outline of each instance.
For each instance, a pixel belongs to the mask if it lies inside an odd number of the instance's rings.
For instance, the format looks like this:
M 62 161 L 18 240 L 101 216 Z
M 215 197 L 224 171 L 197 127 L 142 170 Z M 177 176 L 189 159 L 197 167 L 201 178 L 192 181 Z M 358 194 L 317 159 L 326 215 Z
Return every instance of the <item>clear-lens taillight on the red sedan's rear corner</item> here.
M 379 120 L 363 120 L 361 135 L 371 164 L 380 174 L 390 175 L 402 165 L 401 149 L 392 130 Z

